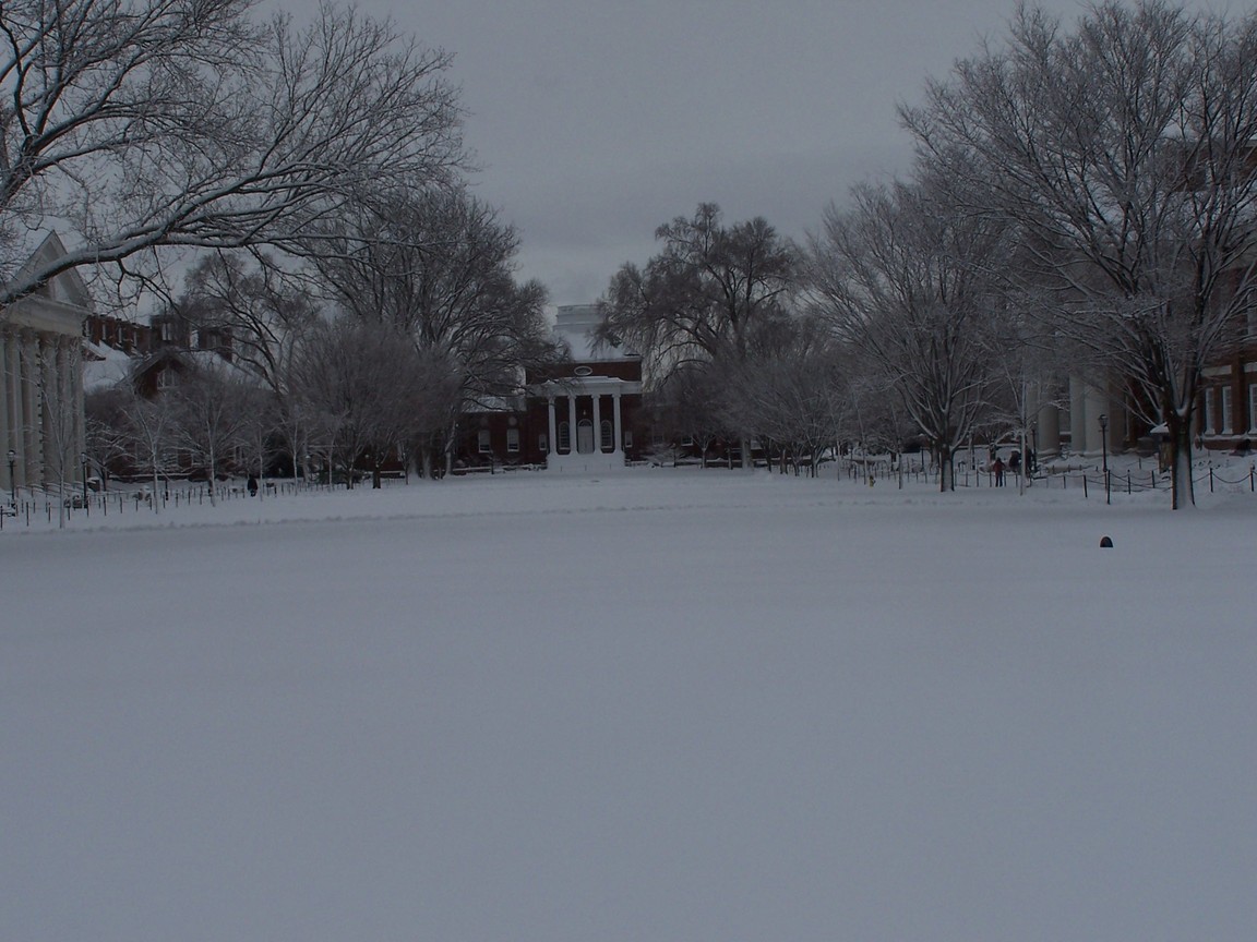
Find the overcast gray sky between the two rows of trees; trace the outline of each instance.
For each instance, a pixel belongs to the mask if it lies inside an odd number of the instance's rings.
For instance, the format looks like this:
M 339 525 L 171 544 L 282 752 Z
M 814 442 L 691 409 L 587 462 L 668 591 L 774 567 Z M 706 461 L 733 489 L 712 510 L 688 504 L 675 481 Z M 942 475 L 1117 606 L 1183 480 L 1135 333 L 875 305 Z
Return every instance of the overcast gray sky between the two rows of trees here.
M 1045 0 L 1073 20 L 1075 0 Z M 1204 4 L 1193 4 L 1203 6 Z M 358 0 L 454 53 L 476 192 L 522 235 L 522 279 L 596 300 L 699 202 L 783 235 L 908 170 L 915 102 L 1014 0 Z

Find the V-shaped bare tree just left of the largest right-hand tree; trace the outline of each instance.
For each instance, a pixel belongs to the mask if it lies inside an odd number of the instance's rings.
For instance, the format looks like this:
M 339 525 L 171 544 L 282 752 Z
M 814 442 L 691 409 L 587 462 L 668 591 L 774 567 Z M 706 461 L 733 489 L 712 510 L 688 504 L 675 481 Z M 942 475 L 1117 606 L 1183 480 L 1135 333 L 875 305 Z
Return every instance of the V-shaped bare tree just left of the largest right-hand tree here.
M 812 242 L 812 289 L 836 335 L 876 362 L 954 490 L 953 455 L 987 406 L 992 276 L 1006 231 L 929 185 L 860 187 Z

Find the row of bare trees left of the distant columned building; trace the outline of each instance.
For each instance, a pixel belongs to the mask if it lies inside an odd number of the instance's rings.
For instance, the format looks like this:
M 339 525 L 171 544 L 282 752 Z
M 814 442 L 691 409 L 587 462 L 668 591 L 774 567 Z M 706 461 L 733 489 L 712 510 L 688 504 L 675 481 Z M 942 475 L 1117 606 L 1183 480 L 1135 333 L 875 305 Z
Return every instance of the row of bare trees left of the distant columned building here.
M 258 472 L 278 448 L 435 474 L 461 409 L 558 354 L 517 232 L 468 188 L 449 69 L 353 5 L 0 5 L 0 319 L 77 269 L 230 347 L 180 360 L 170 394 L 92 397 L 102 467 Z M 48 225 L 69 250 L 33 264 Z

